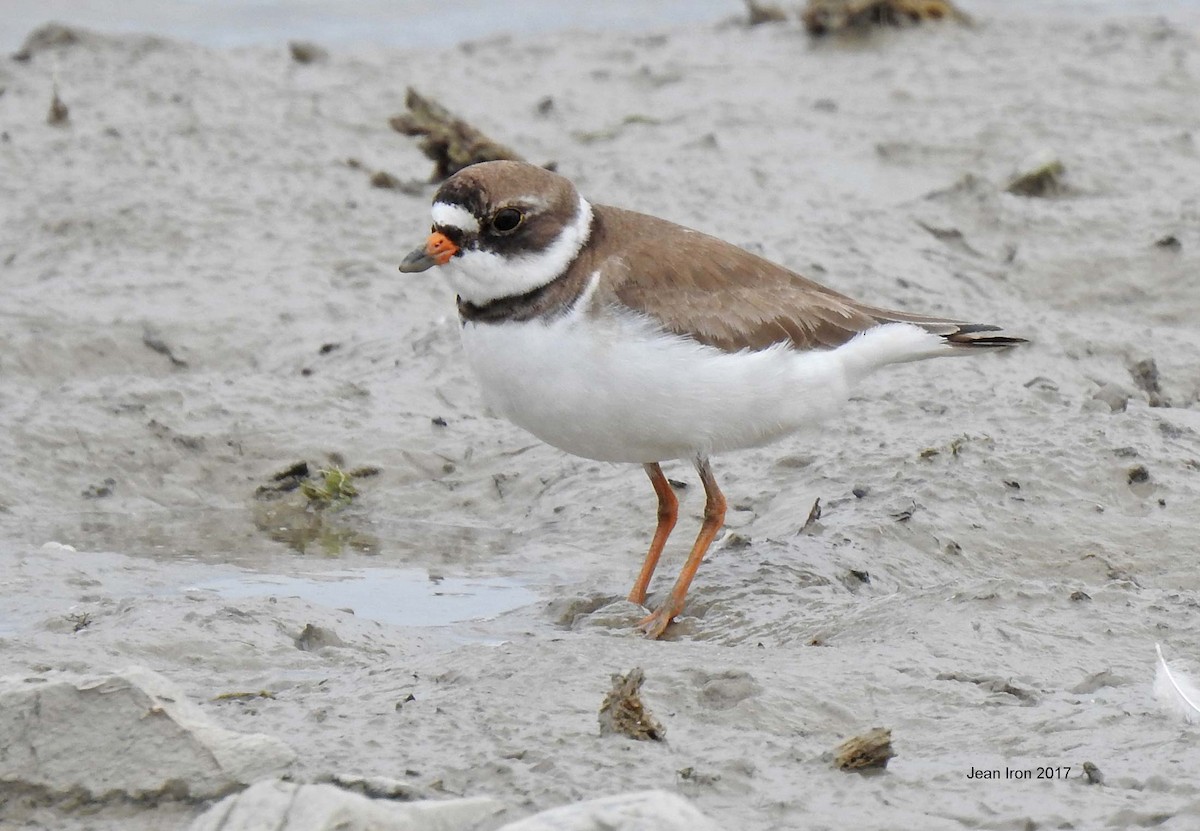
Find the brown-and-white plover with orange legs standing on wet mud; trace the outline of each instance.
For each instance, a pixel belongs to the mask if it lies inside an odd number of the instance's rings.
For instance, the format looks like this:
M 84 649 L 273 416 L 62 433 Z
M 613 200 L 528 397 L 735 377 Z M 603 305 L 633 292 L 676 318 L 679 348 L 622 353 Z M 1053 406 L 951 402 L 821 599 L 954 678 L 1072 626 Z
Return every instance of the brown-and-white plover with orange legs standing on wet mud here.
M 638 462 L 659 521 L 629 599 L 644 604 L 678 503 L 660 462 L 690 459 L 704 520 L 658 638 L 725 519 L 709 456 L 839 409 L 887 364 L 1022 342 L 998 327 L 852 300 L 714 237 L 607 205 L 522 162 L 484 162 L 433 198 L 433 231 L 401 271 L 440 265 L 486 402 L 588 459 Z

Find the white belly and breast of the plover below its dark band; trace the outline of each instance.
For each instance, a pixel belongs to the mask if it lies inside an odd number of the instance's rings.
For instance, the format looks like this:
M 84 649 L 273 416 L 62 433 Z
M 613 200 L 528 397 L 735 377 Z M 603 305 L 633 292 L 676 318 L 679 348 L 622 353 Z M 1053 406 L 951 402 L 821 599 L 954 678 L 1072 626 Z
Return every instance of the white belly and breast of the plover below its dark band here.
M 952 353 L 908 323 L 832 351 L 727 353 L 632 312 L 589 315 L 593 289 L 553 321 L 468 323 L 462 336 L 492 408 L 554 447 L 601 461 L 757 447 L 835 414 L 878 366 Z

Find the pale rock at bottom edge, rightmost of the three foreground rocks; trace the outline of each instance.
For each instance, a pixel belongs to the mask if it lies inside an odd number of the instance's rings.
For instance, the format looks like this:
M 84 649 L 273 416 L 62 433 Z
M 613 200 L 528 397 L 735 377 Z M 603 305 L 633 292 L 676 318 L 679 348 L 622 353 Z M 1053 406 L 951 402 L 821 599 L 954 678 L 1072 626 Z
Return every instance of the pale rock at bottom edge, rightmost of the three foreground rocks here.
M 509 823 L 499 831 L 721 831 L 684 797 L 640 790 L 564 805 Z

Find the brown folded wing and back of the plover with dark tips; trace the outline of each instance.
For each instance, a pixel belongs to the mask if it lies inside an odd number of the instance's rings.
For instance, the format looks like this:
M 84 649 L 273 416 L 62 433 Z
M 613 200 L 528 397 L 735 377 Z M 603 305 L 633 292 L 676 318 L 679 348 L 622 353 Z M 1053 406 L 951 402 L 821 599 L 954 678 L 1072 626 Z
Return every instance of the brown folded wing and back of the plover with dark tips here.
M 593 251 L 620 256 L 578 263 L 599 268 L 606 288 L 630 309 L 649 315 L 670 331 L 727 352 L 788 343 L 828 349 L 888 322 L 922 325 L 959 346 L 1012 346 L 1020 339 L 985 333 L 997 327 L 967 324 L 876 309 L 756 257 L 728 243 L 643 214 L 596 205 Z M 649 263 L 647 270 L 631 263 Z

